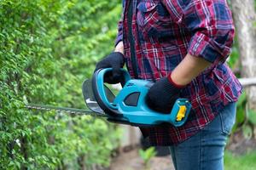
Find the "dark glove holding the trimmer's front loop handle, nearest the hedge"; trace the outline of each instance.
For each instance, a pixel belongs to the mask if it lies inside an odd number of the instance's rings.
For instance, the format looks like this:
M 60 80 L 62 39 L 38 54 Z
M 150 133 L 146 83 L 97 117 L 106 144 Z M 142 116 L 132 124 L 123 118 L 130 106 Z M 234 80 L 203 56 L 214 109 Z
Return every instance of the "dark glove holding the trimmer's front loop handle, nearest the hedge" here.
M 105 74 L 104 82 L 115 84 L 123 81 L 120 68 L 122 68 L 124 65 L 124 55 L 119 52 L 112 52 L 96 64 L 95 71 L 103 68 L 112 68 L 113 71 L 107 72 Z

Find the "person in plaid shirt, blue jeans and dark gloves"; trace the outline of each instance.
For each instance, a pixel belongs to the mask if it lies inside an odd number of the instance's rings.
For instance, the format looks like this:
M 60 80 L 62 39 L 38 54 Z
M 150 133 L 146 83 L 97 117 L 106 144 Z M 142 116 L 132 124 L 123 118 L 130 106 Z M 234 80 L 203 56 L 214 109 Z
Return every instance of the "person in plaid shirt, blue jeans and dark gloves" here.
M 96 64 L 112 67 L 106 82 L 155 82 L 147 104 L 163 114 L 177 98 L 192 111 L 182 127 L 141 127 L 152 145 L 168 146 L 177 170 L 221 170 L 236 120 L 241 84 L 226 64 L 235 28 L 226 0 L 124 0 L 114 51 Z

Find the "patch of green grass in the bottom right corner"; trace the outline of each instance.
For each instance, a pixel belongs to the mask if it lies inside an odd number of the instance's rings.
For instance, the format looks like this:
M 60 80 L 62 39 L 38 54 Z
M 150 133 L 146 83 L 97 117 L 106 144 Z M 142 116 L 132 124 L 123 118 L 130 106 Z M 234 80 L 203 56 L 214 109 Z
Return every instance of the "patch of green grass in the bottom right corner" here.
M 247 152 L 244 155 L 236 156 L 226 150 L 224 155 L 225 170 L 255 170 L 256 169 L 256 150 Z

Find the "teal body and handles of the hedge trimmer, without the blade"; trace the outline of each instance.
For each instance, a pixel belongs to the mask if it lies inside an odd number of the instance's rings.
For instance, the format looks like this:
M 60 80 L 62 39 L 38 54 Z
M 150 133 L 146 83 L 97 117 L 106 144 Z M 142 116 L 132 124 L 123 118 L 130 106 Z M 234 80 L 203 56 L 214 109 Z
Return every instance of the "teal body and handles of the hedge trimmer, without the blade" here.
M 137 127 L 155 126 L 161 123 L 171 123 L 175 127 L 180 127 L 186 122 L 191 110 L 188 99 L 177 99 L 169 114 L 154 111 L 148 107 L 145 101 L 148 89 L 153 82 L 131 79 L 125 70 L 122 70 L 123 88 L 112 101 L 109 101 L 104 85 L 104 76 L 108 71 L 112 71 L 112 69 L 96 71 L 91 81 L 96 103 L 108 116 L 108 121 Z M 86 99 L 84 98 L 84 100 Z

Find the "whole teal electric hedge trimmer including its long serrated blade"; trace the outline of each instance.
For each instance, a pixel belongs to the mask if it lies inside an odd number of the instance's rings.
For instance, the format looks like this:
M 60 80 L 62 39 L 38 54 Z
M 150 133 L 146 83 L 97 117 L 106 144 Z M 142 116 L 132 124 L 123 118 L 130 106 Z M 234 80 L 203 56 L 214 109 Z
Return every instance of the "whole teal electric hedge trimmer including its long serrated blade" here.
M 124 82 L 116 96 L 104 84 L 104 75 L 112 69 L 102 69 L 94 73 L 92 79 L 82 86 L 84 101 L 90 110 L 81 110 L 50 105 L 27 104 L 26 108 L 46 111 L 61 111 L 76 115 L 106 117 L 109 122 L 129 124 L 136 127 L 154 126 L 164 122 L 180 127 L 186 122 L 191 105 L 188 99 L 177 99 L 170 114 L 163 114 L 148 108 L 145 102 L 148 89 L 153 82 L 131 79 L 122 69 Z

